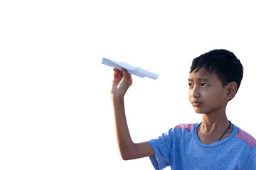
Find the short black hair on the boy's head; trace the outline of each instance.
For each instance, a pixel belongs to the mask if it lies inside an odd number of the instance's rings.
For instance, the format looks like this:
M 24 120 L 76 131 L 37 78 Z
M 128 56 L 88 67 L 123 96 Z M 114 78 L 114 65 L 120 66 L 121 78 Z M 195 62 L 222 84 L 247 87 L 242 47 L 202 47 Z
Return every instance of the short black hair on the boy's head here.
M 243 67 L 238 58 L 228 50 L 212 50 L 196 57 L 191 65 L 190 73 L 198 72 L 201 68 L 215 73 L 223 86 L 235 81 L 238 89 L 242 81 Z

